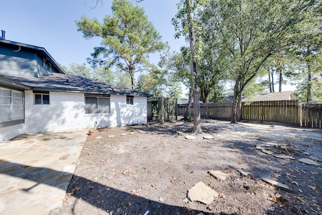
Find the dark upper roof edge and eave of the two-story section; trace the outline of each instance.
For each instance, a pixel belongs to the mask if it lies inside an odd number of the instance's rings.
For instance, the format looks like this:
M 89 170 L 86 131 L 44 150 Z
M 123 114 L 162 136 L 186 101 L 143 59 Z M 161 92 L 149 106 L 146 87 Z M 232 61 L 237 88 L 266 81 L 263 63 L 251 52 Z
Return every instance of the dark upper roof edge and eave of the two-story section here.
M 54 60 L 54 58 L 52 58 L 52 56 L 50 56 L 50 54 L 43 47 L 28 45 L 25 43 L 19 43 L 11 40 L 4 40 L 4 39 L 0 39 L 0 43 L 1 43 L 1 46 L 4 46 L 4 47 L 13 47 L 15 49 L 18 48 L 18 50 L 20 50 L 21 47 L 23 47 L 24 50 L 35 52 L 40 56 L 42 56 L 45 60 L 47 60 L 53 67 L 55 67 L 59 73 L 66 74 L 65 71 L 60 67 L 60 65 Z

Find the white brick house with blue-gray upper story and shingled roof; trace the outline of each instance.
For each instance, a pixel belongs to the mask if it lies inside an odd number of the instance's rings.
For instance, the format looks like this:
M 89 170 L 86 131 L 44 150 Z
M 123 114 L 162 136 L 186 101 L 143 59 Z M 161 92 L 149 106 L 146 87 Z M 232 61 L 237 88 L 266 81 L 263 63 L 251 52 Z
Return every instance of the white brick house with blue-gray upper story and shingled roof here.
M 24 133 L 145 124 L 149 96 L 67 75 L 45 48 L 0 39 L 0 141 Z

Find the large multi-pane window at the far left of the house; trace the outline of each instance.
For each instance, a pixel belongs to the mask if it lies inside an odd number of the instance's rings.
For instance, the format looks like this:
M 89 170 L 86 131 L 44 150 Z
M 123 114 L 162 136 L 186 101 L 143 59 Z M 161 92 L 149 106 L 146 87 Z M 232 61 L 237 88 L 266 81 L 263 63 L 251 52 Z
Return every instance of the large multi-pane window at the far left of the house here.
M 12 122 L 24 119 L 24 95 L 23 92 L 0 88 L 0 123 Z M 7 123 L 5 126 L 22 123 Z M 2 126 L 0 126 L 2 127 Z

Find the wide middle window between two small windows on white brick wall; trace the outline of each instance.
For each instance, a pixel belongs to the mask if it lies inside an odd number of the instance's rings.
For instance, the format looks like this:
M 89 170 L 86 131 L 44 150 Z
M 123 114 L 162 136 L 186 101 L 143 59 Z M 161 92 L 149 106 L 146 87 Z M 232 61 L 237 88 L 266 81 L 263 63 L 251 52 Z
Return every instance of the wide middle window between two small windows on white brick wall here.
M 110 113 L 109 96 L 85 96 L 85 113 Z

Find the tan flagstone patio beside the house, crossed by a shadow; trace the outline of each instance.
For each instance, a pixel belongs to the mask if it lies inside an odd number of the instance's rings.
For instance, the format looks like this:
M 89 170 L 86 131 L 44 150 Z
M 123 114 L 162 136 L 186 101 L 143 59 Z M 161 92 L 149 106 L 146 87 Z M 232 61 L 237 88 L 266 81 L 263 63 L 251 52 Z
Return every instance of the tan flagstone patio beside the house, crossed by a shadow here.
M 0 214 L 57 214 L 87 133 L 24 134 L 0 142 Z

